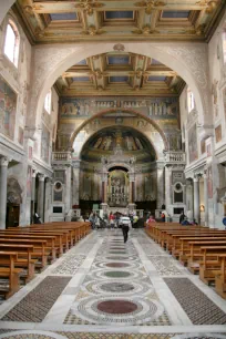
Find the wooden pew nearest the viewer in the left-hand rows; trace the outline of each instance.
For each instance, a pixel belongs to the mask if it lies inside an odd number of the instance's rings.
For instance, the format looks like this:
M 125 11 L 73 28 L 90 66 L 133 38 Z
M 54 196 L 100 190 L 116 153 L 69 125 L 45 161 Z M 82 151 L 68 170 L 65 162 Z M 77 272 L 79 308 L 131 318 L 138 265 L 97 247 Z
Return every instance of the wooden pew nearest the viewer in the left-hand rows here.
M 0 265 L 0 280 L 9 280 L 8 288 L 0 286 L 0 294 L 4 295 L 6 299 L 8 299 L 20 289 L 20 274 L 23 270 L 14 267 L 14 261 L 18 260 L 17 251 L 0 251 L 0 263 L 1 260 L 9 263 L 8 267 L 1 267 Z

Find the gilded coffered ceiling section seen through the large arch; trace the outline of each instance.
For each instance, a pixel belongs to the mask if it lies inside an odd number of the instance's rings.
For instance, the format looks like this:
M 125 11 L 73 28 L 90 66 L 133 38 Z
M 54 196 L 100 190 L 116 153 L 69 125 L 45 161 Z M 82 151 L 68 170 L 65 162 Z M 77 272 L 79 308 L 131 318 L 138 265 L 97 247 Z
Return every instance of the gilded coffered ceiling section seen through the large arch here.
M 58 79 L 61 95 L 178 96 L 185 82 L 157 60 L 111 52 L 81 60 Z

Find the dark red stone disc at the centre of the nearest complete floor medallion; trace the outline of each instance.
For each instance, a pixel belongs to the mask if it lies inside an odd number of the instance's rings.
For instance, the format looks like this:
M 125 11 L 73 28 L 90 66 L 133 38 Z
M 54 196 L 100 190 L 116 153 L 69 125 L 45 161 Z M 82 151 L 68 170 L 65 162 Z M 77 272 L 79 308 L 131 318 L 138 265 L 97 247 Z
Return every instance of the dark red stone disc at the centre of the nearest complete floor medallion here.
M 127 300 L 105 300 L 97 304 L 97 309 L 110 315 L 126 315 L 134 312 L 137 305 Z

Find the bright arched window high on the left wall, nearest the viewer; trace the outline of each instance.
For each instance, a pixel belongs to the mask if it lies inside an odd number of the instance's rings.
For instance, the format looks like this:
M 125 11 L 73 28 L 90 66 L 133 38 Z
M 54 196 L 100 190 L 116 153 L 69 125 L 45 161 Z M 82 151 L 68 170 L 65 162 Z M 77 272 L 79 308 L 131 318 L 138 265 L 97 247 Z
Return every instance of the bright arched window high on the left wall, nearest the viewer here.
M 16 66 L 18 66 L 19 47 L 20 35 L 17 25 L 13 21 L 9 20 L 6 32 L 4 54 Z

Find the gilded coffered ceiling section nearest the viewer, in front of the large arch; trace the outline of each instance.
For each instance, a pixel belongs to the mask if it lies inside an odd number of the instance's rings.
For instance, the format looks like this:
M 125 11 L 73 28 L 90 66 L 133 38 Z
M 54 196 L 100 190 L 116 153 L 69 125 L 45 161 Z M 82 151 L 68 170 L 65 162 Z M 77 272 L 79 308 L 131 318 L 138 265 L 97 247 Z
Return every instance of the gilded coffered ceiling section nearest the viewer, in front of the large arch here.
M 18 0 L 32 43 L 207 41 L 225 0 Z

